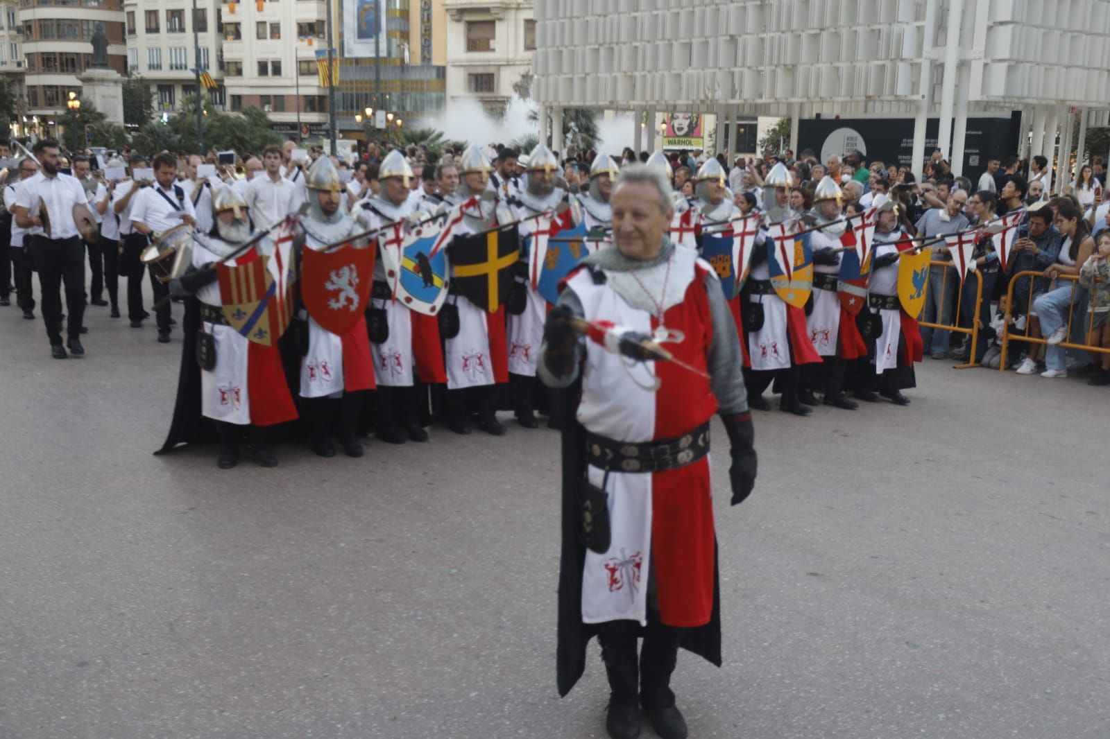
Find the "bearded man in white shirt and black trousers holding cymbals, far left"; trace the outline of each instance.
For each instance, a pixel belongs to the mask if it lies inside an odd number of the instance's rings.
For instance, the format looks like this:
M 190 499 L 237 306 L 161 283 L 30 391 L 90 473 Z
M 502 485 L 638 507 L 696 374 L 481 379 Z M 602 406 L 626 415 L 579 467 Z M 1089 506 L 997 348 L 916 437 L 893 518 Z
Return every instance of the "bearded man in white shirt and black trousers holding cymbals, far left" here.
M 14 221 L 21 229 L 38 229 L 31 237 L 31 256 L 39 272 L 42 318 L 56 360 L 84 355 L 81 320 L 84 316 L 84 245 L 81 239 L 99 240 L 100 230 L 89 211 L 88 198 L 74 178 L 61 174 L 58 142 L 42 139 L 32 153 L 42 171 L 17 189 Z M 62 345 L 61 285 L 65 284 L 68 341 Z

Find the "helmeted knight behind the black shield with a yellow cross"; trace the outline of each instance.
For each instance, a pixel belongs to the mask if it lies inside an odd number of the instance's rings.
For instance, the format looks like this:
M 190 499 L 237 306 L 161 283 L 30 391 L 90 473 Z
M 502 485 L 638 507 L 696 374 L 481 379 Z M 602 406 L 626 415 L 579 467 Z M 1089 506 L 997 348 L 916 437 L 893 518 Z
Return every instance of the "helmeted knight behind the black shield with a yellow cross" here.
M 448 171 L 455 173 L 454 189 L 444 192 L 443 211 L 450 211 L 471 198 L 486 192 L 493 168 L 482 149 L 471 144 L 455 164 L 440 164 L 436 168 L 441 186 L 452 188 Z M 460 179 L 462 175 L 462 179 Z M 456 237 L 482 233 L 497 224 L 496 202 L 493 199 L 478 200 L 477 204 L 463 209 L 462 221 L 455 225 Z M 441 212 L 443 212 L 441 211 Z M 447 246 L 451 255 L 451 246 Z M 451 260 L 448 260 L 450 262 Z M 447 298 L 458 312 L 458 333 L 444 336 L 443 358 L 447 374 L 447 426 L 456 434 L 470 434 L 468 409 L 475 408 L 478 428 L 494 436 L 503 436 L 507 431 L 497 421 L 497 383 L 508 379 L 507 346 L 505 345 L 505 306 L 490 313 L 458 293 L 454 276 L 456 266 L 451 264 L 451 296 Z

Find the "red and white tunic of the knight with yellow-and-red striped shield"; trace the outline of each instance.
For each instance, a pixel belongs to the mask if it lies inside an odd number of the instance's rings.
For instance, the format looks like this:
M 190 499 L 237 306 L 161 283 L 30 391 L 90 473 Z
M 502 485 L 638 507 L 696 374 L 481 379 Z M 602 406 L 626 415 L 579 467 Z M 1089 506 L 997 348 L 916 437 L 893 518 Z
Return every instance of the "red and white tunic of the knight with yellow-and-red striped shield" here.
M 228 244 L 229 252 L 233 249 Z M 194 242 L 193 266 L 219 259 L 219 254 Z M 235 266 L 235 261 L 229 260 L 228 266 Z M 223 304 L 219 282 L 199 288 L 196 297 L 218 310 Z M 256 344 L 226 324 L 204 321 L 201 330 L 215 340 L 215 367 L 211 372 L 199 370 L 202 415 L 240 426 L 273 426 L 296 418 L 276 345 Z

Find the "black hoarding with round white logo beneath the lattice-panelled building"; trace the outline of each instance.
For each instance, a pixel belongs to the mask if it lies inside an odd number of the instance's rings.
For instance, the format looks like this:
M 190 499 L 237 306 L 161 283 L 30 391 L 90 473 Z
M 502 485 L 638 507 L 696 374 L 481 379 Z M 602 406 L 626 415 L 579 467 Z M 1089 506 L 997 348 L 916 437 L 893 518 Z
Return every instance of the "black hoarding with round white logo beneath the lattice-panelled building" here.
M 925 156 L 937 148 L 938 119 L 925 124 Z M 963 176 L 976 182 L 987 161 L 993 156 L 1005 159 L 1017 153 L 1021 135 L 1021 113 L 1010 118 L 969 118 L 963 143 Z M 858 149 L 868 164 L 881 161 L 888 166 L 910 165 L 914 154 L 914 119 L 911 118 L 852 118 L 839 120 L 813 119 L 798 121 L 798 149 L 813 149 L 828 161 L 830 154 L 844 156 Z M 956 168 L 952 168 L 956 169 Z

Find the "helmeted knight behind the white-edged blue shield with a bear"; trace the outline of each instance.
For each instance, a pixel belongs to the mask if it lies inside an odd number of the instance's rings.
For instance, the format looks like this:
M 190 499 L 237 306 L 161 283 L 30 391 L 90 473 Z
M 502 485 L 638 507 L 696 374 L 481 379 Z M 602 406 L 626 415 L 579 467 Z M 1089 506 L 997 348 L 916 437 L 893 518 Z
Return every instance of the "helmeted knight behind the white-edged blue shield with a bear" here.
M 393 249 L 400 254 L 400 231 L 410 216 L 416 214 L 414 201 L 408 199 L 412 168 L 404 155 L 391 151 L 379 171 L 381 190 L 377 195 L 363 201 L 359 217 L 366 229 L 382 229 L 377 262 L 374 266 L 374 286 L 371 352 L 377 382 L 377 415 L 374 435 L 390 444 L 403 444 L 407 436 L 413 442 L 426 442 L 427 432 L 421 425 L 420 408 L 425 403 L 421 382 L 445 382 L 443 353 L 436 320 L 410 310 L 393 300 L 391 280 L 400 275 L 387 274 L 383 253 Z M 401 263 L 401 259 L 397 259 Z M 384 316 L 383 316 L 384 312 Z

